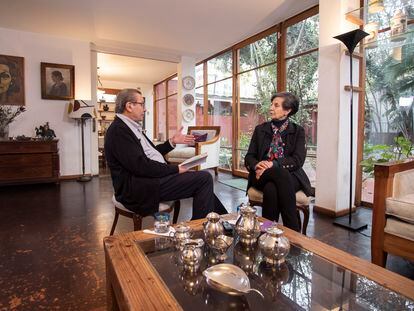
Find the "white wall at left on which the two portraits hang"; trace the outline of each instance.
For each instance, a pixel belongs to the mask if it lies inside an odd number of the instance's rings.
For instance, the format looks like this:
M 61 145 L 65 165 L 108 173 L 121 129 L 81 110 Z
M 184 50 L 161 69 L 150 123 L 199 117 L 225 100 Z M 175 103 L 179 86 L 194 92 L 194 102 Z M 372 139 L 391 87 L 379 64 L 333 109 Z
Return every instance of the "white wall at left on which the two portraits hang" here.
M 67 100 L 43 100 L 40 63 L 75 66 L 75 98 L 91 99 L 91 59 L 88 42 L 0 28 L 0 54 L 21 56 L 25 61 L 26 109 L 10 125 L 10 135 L 34 136 L 35 127 L 49 122 L 59 139 L 60 174 L 81 173 L 80 128 L 67 117 Z M 89 122 L 90 124 L 90 122 Z M 86 128 L 86 173 L 90 172 L 90 127 Z

